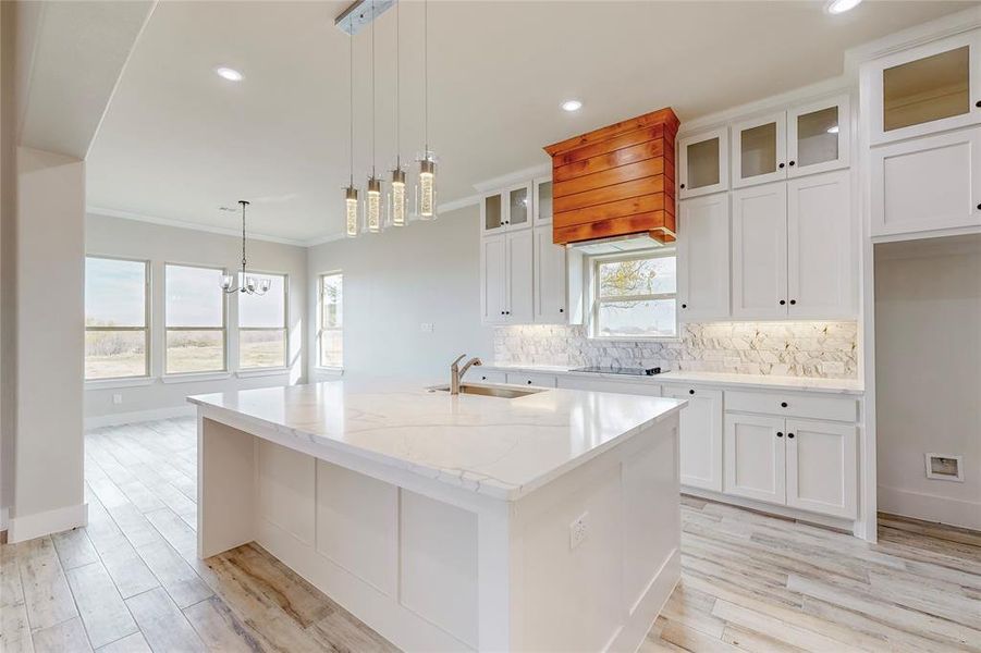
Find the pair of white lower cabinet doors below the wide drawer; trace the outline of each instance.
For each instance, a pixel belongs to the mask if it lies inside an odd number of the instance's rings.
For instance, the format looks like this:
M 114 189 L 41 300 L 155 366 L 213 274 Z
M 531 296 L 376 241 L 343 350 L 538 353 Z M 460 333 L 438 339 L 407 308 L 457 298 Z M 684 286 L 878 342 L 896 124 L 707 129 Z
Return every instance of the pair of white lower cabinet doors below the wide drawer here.
M 728 412 L 723 491 L 851 519 L 856 447 L 855 424 Z

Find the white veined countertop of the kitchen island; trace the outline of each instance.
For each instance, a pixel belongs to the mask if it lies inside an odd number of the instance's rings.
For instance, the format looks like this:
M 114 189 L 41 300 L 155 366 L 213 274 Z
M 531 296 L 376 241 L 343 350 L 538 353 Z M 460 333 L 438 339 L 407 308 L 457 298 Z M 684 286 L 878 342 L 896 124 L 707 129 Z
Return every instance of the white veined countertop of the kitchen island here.
M 519 389 L 527 390 L 527 389 Z M 426 383 L 331 381 L 188 397 L 205 416 L 271 427 L 326 447 L 515 501 L 685 402 L 573 390 L 514 399 Z M 238 427 L 241 428 L 241 427 Z

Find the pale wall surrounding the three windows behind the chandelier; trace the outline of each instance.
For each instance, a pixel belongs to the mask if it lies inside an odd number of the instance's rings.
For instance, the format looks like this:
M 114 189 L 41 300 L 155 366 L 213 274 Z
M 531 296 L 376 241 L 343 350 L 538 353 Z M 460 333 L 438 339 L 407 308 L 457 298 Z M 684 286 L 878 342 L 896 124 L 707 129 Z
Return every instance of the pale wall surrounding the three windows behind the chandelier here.
M 85 418 L 89 426 L 111 423 L 132 418 L 130 414 L 155 411 L 167 415 L 188 411 L 185 397 L 193 394 L 225 392 L 299 383 L 306 375 L 303 354 L 307 307 L 306 248 L 263 241 L 248 241 L 248 264 L 263 272 L 289 274 L 287 306 L 290 315 L 290 369 L 274 375 L 243 377 L 235 373 L 237 333 L 237 296 L 229 300 L 230 373 L 224 379 L 182 383 L 163 383 L 163 264 L 188 263 L 222 266 L 229 270 L 240 267 L 242 241 L 234 236 L 163 226 L 134 220 L 88 214 L 85 219 L 85 251 L 88 255 L 119 256 L 151 261 L 150 266 L 150 385 L 118 385 L 111 382 L 89 382 L 85 389 Z M 113 404 L 112 396 L 122 395 L 122 404 Z

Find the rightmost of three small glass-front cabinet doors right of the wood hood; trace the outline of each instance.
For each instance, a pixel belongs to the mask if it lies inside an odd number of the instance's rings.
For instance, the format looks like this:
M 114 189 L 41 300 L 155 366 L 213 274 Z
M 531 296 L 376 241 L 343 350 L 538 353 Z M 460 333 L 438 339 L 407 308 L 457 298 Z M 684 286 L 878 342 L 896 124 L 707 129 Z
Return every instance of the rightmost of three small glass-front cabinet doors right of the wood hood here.
M 848 96 L 839 96 L 787 111 L 787 176 L 848 165 L 849 107 Z

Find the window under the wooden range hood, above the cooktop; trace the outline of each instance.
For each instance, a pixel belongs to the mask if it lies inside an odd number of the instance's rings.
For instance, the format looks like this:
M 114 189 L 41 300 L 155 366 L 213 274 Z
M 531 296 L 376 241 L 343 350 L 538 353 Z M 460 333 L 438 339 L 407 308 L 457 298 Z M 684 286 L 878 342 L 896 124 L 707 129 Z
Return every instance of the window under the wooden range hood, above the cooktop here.
M 673 249 L 592 260 L 594 337 L 676 337 Z

